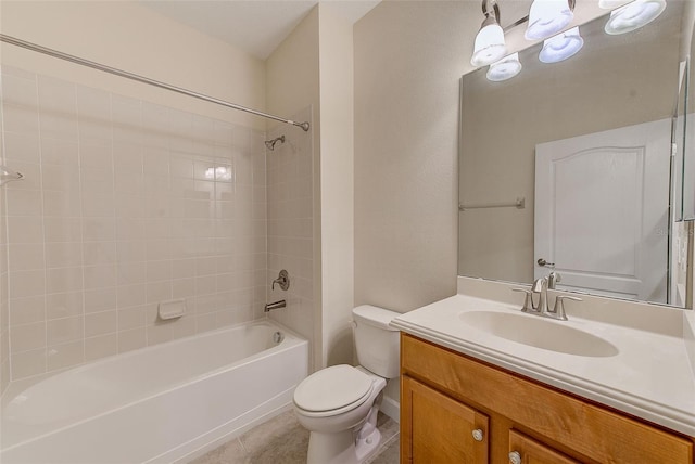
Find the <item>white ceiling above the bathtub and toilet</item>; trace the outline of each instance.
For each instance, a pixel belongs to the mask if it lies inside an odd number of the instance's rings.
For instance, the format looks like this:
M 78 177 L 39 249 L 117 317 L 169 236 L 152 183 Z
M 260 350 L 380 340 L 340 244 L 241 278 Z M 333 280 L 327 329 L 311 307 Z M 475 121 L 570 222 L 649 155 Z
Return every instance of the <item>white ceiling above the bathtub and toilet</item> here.
M 319 0 L 351 23 L 380 0 Z M 138 0 L 164 16 L 265 60 L 319 2 L 317 0 Z

